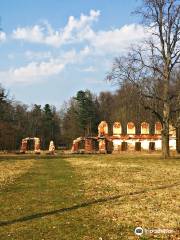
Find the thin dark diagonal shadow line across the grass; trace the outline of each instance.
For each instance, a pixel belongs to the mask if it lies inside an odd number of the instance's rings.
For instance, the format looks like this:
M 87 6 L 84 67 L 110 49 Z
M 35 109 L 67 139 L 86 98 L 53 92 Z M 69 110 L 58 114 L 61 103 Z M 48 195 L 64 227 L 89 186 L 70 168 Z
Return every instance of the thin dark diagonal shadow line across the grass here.
M 110 197 L 93 199 L 91 201 L 76 204 L 76 205 L 71 206 L 71 207 L 60 208 L 60 209 L 49 211 L 49 212 L 35 213 L 35 214 L 32 214 L 32 215 L 20 217 L 18 219 L 14 219 L 14 220 L 11 220 L 11 221 L 0 221 L 0 227 L 12 225 L 12 224 L 15 224 L 15 223 L 18 223 L 18 222 L 26 222 L 26 221 L 30 221 L 30 220 L 33 220 L 33 219 L 38 219 L 38 218 L 42 218 L 42 217 L 45 217 L 45 216 L 54 215 L 54 214 L 69 212 L 69 211 L 73 211 L 73 210 L 84 208 L 84 207 L 89 207 L 89 206 L 96 205 L 96 204 L 102 204 L 102 203 L 113 201 L 113 200 L 123 198 L 123 197 L 126 197 L 126 196 L 139 195 L 139 194 L 147 193 L 147 192 L 154 191 L 154 190 L 172 188 L 172 187 L 176 187 L 176 186 L 179 186 L 179 185 L 180 185 L 180 182 L 176 182 L 176 183 L 173 183 L 173 184 L 170 184 L 170 185 L 159 186 L 159 187 L 151 188 L 151 189 L 144 189 L 144 190 L 141 190 L 141 191 L 135 191 L 135 192 L 127 193 L 127 194 L 120 194 L 120 195 L 115 195 L 115 196 L 110 196 Z

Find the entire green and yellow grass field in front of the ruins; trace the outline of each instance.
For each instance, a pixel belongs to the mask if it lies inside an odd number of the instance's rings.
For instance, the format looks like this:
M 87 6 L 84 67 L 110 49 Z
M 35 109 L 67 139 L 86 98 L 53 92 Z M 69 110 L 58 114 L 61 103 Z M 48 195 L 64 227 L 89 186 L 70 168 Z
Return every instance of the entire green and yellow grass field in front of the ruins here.
M 0 156 L 0 191 L 1 240 L 180 239 L 178 156 Z

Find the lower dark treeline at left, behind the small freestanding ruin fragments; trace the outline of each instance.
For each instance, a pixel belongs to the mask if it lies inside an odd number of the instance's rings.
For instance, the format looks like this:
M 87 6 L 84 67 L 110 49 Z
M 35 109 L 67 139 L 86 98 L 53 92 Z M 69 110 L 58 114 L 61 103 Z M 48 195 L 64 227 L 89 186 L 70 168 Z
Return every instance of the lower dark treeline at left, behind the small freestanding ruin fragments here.
M 39 137 L 41 148 L 61 141 L 61 119 L 54 106 L 29 107 L 8 98 L 0 87 L 0 150 L 17 150 L 25 137 Z

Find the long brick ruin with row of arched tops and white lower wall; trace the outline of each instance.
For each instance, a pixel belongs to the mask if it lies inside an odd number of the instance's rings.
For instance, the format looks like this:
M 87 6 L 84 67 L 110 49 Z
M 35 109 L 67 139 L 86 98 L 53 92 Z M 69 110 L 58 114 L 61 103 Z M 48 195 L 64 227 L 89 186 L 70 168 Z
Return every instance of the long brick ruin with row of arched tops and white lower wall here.
M 137 134 L 136 126 L 133 122 L 127 123 L 126 133 L 122 133 L 120 122 L 114 122 L 113 134 L 108 134 L 108 124 L 102 121 L 98 126 L 98 136 L 96 137 L 79 137 L 73 141 L 71 151 L 73 153 L 112 153 L 121 151 L 156 151 L 162 148 L 161 138 L 162 126 L 156 122 L 154 133 L 150 134 L 150 125 L 142 122 L 140 134 Z M 176 129 L 170 125 L 169 130 L 170 150 L 177 150 Z

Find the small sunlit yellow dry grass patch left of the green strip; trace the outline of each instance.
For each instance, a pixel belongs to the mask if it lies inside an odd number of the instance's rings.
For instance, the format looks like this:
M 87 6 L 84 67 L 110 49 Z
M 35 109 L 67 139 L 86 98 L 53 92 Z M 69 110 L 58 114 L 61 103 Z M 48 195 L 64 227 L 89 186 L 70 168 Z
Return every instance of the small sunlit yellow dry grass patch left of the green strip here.
M 35 160 L 8 160 L 0 162 L 0 189 L 25 174 Z

